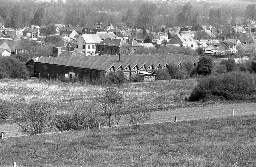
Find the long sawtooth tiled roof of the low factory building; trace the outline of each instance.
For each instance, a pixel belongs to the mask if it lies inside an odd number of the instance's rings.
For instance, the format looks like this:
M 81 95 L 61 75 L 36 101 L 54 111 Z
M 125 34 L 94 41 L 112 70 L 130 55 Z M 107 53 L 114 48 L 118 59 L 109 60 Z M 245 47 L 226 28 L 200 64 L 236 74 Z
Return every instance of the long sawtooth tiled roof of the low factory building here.
M 164 57 L 162 57 L 162 54 L 121 55 L 119 62 L 117 55 L 85 56 L 86 53 L 78 52 L 73 52 L 73 54 L 64 57 L 40 57 L 36 62 L 107 71 L 112 66 L 114 68 L 119 66 L 133 68 L 137 65 L 140 68 L 145 65 L 147 68 L 151 64 L 153 67 L 158 64 L 163 67 L 166 63 L 178 65 L 180 62 L 198 62 L 200 57 L 180 54 L 165 54 Z

